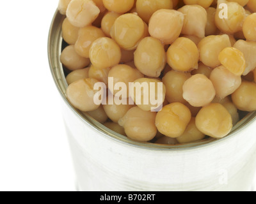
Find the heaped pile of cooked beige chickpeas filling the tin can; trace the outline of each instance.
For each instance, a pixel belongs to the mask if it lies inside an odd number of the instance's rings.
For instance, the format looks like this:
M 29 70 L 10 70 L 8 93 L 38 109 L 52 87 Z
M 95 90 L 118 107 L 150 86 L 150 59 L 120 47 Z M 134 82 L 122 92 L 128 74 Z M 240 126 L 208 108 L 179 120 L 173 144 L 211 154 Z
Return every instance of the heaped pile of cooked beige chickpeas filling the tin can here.
M 67 99 L 112 131 L 191 143 L 227 136 L 256 110 L 256 0 L 60 0 L 58 10 Z M 93 86 L 109 77 L 163 82 L 163 109 L 134 96 L 134 105 L 96 105 Z

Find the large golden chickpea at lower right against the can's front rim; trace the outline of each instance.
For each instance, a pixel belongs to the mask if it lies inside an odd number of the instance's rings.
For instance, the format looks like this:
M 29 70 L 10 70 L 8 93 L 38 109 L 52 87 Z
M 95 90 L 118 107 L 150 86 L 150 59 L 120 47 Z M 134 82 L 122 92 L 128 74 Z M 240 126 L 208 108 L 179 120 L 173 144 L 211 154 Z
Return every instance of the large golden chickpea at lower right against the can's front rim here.
M 220 103 L 211 103 L 196 115 L 196 128 L 212 138 L 227 136 L 232 127 L 232 117 Z

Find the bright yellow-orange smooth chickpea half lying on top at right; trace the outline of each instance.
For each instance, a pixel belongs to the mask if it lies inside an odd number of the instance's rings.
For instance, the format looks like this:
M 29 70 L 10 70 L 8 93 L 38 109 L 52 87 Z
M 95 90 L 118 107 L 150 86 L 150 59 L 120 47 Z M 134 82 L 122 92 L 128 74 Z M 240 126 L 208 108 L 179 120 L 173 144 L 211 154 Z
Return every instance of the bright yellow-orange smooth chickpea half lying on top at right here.
M 241 76 L 245 71 L 246 61 L 244 54 L 237 48 L 224 48 L 220 52 L 218 59 L 234 75 Z

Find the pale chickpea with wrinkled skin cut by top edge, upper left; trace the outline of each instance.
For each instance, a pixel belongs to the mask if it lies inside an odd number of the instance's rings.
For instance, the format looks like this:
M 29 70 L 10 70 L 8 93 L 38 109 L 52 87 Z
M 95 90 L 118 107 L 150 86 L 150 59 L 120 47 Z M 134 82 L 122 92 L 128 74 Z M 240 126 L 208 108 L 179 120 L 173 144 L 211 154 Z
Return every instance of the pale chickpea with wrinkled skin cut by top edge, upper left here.
M 92 0 L 72 0 L 67 8 L 67 18 L 76 27 L 92 24 L 99 13 L 99 8 Z

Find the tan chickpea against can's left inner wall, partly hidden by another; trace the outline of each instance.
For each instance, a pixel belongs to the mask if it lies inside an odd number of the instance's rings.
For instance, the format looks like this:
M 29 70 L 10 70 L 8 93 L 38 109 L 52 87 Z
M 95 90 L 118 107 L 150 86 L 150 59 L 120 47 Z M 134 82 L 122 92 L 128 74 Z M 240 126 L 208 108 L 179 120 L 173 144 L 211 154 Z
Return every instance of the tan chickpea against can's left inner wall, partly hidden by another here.
M 70 71 L 83 69 L 90 64 L 90 59 L 76 53 L 74 45 L 69 45 L 61 52 L 60 61 Z

